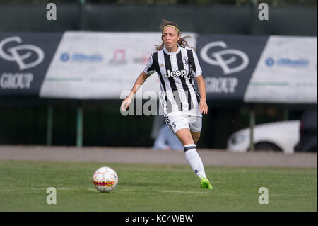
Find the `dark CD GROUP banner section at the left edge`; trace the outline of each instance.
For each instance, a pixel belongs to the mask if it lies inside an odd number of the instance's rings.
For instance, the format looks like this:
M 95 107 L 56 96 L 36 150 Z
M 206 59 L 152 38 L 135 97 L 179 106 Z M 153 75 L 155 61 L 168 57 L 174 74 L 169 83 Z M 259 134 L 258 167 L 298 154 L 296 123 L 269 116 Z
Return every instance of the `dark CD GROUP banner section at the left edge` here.
M 0 96 L 39 97 L 62 35 L 0 32 Z

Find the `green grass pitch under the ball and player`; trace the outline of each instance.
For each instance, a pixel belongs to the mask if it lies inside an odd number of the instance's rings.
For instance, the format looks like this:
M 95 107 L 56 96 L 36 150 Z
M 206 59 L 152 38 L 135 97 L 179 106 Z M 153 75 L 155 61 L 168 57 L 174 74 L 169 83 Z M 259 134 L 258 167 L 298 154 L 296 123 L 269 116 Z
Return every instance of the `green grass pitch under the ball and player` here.
M 101 166 L 119 183 L 100 193 L 91 181 Z M 0 211 L 315 211 L 317 168 L 206 166 L 214 189 L 199 188 L 190 166 L 98 162 L 0 161 Z M 47 188 L 57 189 L 48 205 Z M 269 204 L 260 205 L 266 187 Z

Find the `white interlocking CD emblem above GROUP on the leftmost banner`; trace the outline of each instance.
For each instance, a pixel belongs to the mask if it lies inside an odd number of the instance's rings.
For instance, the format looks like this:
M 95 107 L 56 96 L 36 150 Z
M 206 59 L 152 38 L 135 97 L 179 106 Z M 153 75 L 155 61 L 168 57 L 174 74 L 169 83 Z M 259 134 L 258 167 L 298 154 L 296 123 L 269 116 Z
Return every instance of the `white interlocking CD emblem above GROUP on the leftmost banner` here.
M 6 51 L 4 51 L 4 45 L 11 42 L 20 44 L 22 43 L 22 39 L 18 36 L 13 36 L 2 40 L 0 42 L 0 57 L 2 57 L 4 60 L 15 61 L 18 64 L 20 71 L 35 67 L 43 61 L 45 54 L 39 47 L 35 45 L 17 45 L 16 47 L 9 47 Z M 30 51 L 25 52 L 25 50 Z M 19 51 L 25 53 L 22 54 L 19 53 Z M 34 58 L 33 53 L 37 55 L 36 59 L 33 60 L 33 62 L 25 63 L 28 58 Z

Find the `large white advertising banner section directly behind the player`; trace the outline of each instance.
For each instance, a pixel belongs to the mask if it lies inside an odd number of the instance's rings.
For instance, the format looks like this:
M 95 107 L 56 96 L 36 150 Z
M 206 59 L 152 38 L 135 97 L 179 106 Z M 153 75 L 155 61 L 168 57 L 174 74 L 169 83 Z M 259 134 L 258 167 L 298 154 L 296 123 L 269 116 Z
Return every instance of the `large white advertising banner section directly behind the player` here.
M 195 33 L 188 44 L 196 47 Z M 130 91 L 143 72 L 161 33 L 66 32 L 40 89 L 42 98 L 118 99 Z M 157 74 L 143 84 L 143 91 L 160 87 Z

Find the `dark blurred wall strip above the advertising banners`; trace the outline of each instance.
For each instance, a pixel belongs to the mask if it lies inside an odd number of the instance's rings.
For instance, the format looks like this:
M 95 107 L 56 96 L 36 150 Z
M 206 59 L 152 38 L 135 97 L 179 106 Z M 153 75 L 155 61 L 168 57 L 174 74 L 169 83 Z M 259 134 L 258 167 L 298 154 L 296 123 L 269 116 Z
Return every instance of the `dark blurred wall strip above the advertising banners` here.
M 268 1 L 272 4 L 266 23 L 257 18 L 259 9 L 254 1 L 54 1 L 57 21 L 42 19 L 47 13 L 45 2 L 50 1 L 27 2 L 0 1 L 1 31 L 158 31 L 161 18 L 169 18 L 179 22 L 182 30 L 195 33 L 317 35 L 317 1 Z

